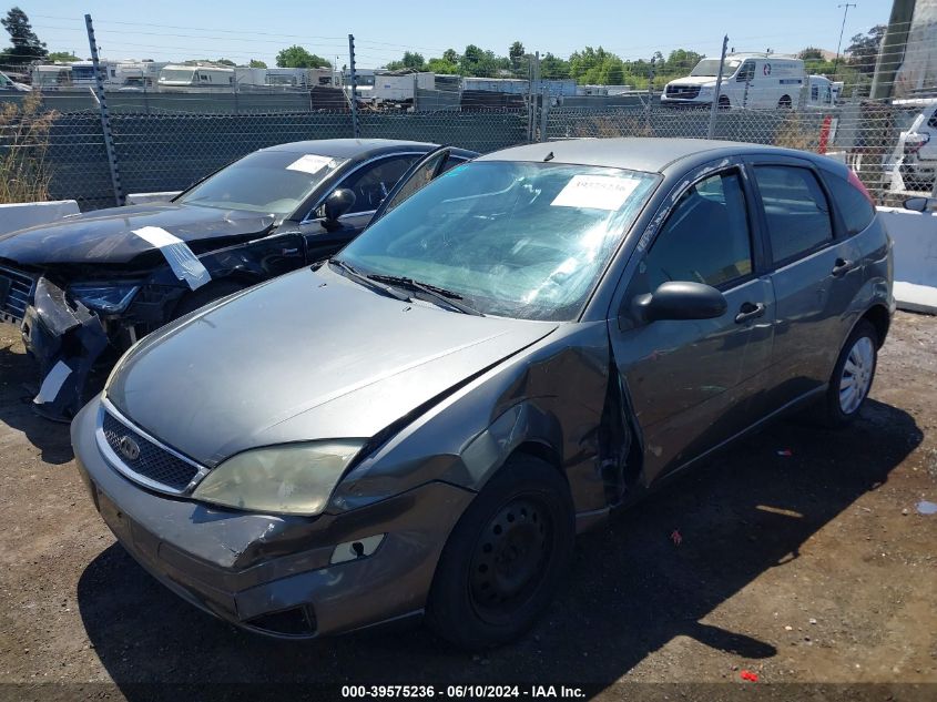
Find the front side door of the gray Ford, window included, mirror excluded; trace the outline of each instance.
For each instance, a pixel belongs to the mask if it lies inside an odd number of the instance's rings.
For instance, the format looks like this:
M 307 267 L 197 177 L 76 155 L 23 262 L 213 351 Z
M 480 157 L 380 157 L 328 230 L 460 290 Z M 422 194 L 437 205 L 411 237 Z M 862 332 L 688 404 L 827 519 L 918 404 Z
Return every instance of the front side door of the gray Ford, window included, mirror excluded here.
M 644 438 L 645 484 L 731 438 L 757 418 L 771 362 L 774 297 L 758 276 L 761 246 L 741 163 L 702 169 L 668 197 L 665 220 L 610 322 L 619 373 Z M 669 212 L 666 211 L 669 208 Z M 641 323 L 631 301 L 668 281 L 705 283 L 721 317 Z

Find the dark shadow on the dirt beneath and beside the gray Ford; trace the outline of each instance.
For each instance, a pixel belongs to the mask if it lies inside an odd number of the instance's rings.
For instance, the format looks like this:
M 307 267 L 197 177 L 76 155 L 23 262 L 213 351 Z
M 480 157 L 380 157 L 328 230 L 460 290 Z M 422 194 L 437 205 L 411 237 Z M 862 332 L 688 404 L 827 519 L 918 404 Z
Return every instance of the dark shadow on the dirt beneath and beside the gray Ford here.
M 766 659 L 776 654 L 772 643 L 700 620 L 798 558 L 812 535 L 884 484 L 921 438 L 908 414 L 875 401 L 842 433 L 796 421 L 770 427 L 580 538 L 569 582 L 539 624 L 481 657 L 419 627 L 303 643 L 245 633 L 171 594 L 116 545 L 84 570 L 79 606 L 98 655 L 130 699 L 152 692 L 136 684 L 150 682 L 608 685 L 674 637 Z M 674 529 L 679 547 L 669 538 Z

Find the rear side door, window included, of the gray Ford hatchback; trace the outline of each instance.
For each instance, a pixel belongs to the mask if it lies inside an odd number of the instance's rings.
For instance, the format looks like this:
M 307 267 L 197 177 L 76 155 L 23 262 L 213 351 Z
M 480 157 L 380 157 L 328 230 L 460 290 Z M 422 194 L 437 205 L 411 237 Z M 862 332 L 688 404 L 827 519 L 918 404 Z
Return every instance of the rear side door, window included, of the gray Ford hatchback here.
M 809 161 L 764 156 L 750 165 L 777 305 L 770 398 L 777 408 L 829 379 L 864 274 Z

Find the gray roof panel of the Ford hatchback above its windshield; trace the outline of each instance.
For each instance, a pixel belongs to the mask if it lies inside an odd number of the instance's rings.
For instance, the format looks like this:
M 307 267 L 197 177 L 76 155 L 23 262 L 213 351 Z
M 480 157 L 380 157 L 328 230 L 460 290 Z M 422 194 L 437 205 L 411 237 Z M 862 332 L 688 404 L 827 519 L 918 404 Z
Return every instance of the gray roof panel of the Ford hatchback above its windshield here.
M 623 136 L 617 139 L 576 139 L 512 146 L 477 159 L 477 161 L 543 161 L 553 154 L 550 163 L 597 165 L 631 171 L 663 173 L 679 161 L 705 162 L 722 156 L 781 154 L 808 157 L 813 154 L 748 144 L 744 142 L 709 139 L 662 139 Z M 834 163 L 831 160 L 831 164 Z

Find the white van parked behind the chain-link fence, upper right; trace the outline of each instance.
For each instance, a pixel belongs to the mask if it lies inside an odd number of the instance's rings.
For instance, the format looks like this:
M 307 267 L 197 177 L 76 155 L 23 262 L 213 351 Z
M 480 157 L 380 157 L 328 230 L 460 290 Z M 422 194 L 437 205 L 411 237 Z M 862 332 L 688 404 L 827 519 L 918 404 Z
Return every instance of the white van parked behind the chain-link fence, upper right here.
M 703 59 L 690 75 L 666 84 L 661 104 L 712 104 L 717 75 L 719 59 Z M 722 108 L 795 108 L 805 80 L 801 59 L 773 53 L 731 53 L 725 57 L 719 104 Z

